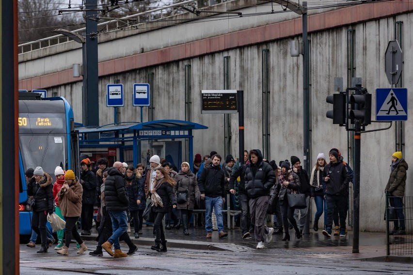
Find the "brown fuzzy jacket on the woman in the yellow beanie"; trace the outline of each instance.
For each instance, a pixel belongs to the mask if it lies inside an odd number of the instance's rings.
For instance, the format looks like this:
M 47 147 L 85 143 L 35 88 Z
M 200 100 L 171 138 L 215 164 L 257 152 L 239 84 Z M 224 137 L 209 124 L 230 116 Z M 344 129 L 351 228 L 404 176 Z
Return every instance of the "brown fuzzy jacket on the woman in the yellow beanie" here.
M 59 207 L 64 217 L 80 217 L 82 212 L 83 187 L 76 178 L 66 191 L 60 189 L 58 193 Z

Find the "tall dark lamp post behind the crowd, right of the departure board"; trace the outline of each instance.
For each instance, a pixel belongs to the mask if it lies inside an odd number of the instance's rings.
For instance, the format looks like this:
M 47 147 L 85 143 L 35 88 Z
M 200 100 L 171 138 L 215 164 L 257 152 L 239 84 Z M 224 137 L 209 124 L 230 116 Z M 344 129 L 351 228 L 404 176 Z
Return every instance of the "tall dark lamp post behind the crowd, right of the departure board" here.
M 309 171 L 309 158 L 310 158 L 310 112 L 309 112 L 309 95 L 308 95 L 308 38 L 307 38 L 307 2 L 303 1 L 302 6 L 302 42 L 303 42 L 303 54 L 302 54 L 302 127 L 303 127 L 303 168 L 308 173 Z M 307 214 L 307 219 L 303 228 L 304 234 L 310 232 L 310 215 Z

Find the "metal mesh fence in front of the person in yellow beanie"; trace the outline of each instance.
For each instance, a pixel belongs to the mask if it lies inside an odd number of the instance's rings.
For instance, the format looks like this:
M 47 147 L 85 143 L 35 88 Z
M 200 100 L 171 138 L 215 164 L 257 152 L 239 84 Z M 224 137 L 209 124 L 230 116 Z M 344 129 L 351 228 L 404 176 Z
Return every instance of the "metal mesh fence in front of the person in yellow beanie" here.
M 413 197 L 399 198 L 386 194 L 384 218 L 387 231 L 387 255 L 413 255 Z

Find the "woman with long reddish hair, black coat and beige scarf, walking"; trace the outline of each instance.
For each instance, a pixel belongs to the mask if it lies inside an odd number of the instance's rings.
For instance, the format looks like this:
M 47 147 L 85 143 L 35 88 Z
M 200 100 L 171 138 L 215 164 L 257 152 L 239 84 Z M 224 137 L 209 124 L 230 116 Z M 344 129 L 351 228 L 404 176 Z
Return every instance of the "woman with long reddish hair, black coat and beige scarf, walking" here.
M 154 228 L 156 232 L 155 245 L 151 246 L 151 249 L 158 252 L 166 252 L 166 240 L 162 227 L 163 216 L 168 213 L 169 208 L 176 208 L 176 199 L 173 191 L 175 185 L 174 179 L 169 175 L 163 167 L 159 167 L 156 170 L 156 179 L 153 189 L 150 190 L 152 199 L 152 211 L 155 212 Z

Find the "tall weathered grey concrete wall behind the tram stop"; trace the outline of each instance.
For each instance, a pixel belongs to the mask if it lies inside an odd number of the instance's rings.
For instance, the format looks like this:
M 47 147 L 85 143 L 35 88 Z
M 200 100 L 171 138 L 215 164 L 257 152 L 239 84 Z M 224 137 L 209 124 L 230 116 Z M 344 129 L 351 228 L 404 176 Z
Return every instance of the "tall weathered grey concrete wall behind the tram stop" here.
M 251 18 L 251 24 L 255 18 Z M 373 94 L 373 113 L 375 109 L 375 89 L 390 87 L 384 74 L 384 51 L 388 40 L 394 37 L 396 21 L 403 21 L 403 51 L 405 65 L 403 68 L 403 86 L 410 87 L 413 83 L 412 66 L 412 13 L 394 15 L 385 18 L 367 20 L 351 26 L 337 25 L 335 28 L 321 28 L 309 34 L 310 42 L 310 128 L 311 128 L 311 161 L 316 162 L 318 153 L 328 152 L 331 148 L 341 149 L 347 158 L 347 132 L 343 127 L 333 125 L 325 113 L 331 108 L 325 102 L 326 96 L 333 93 L 333 78 L 341 76 L 347 79 L 347 30 L 355 30 L 355 72 L 363 78 L 363 86 Z M 174 37 L 174 32 L 156 30 L 155 37 Z M 225 26 L 226 28 L 226 26 Z M 186 30 L 186 27 L 183 27 Z M 179 31 L 182 31 L 179 29 Z M 179 32 L 177 31 L 177 32 Z M 228 31 L 226 29 L 226 31 Z M 162 32 L 164 35 L 162 35 Z M 168 33 L 165 33 L 168 32 Z M 221 33 L 217 30 L 217 33 Z M 148 32 L 145 35 L 150 35 Z M 148 36 L 149 37 L 149 36 Z M 122 41 L 108 42 L 112 45 L 118 42 L 129 44 L 128 37 Z M 185 39 L 183 38 L 183 41 Z M 110 54 L 110 47 L 104 43 L 99 46 L 100 60 L 115 58 Z M 103 48 L 102 48 L 103 47 Z M 139 108 L 132 107 L 133 83 L 147 82 L 147 75 L 154 73 L 152 98 L 155 104 L 154 120 L 184 119 L 185 65 L 191 65 L 191 121 L 204 124 L 208 130 L 194 131 L 194 153 L 206 154 L 215 150 L 221 154 L 223 145 L 223 115 L 201 114 L 200 91 L 218 90 L 223 88 L 223 58 L 230 57 L 229 88 L 244 91 L 245 102 L 245 148 L 262 149 L 262 73 L 261 53 L 269 49 L 270 70 L 270 158 L 278 163 L 297 155 L 302 160 L 302 58 L 293 58 L 289 54 L 289 37 L 263 40 L 246 46 L 228 47 L 227 49 L 209 52 L 191 58 L 183 58 L 173 62 L 159 63 L 151 66 L 113 74 L 104 74 L 99 78 L 99 98 L 101 124 L 113 121 L 113 109 L 106 107 L 106 85 L 120 79 L 125 89 L 125 107 L 121 108 L 121 121 L 139 121 Z M 122 51 L 131 53 L 130 46 Z M 121 52 L 121 51 L 120 51 Z M 126 54 L 126 53 L 125 53 Z M 23 78 L 41 76 L 57 67 L 69 67 L 80 57 L 79 50 L 60 53 L 56 56 L 40 58 L 20 63 Z M 59 61 L 54 61 L 57 58 Z M 36 65 L 33 67 L 33 62 Z M 30 67 L 30 68 L 29 68 Z M 49 69 L 45 69 L 49 67 Z M 52 68 L 53 67 L 53 68 Z M 70 81 L 69 81 L 70 82 Z M 22 87 L 21 87 L 22 88 Z M 40 87 L 39 87 L 40 88 Z M 60 86 L 48 87 L 48 91 L 56 92 L 69 100 L 75 110 L 75 118 L 81 121 L 81 82 L 62 83 Z M 409 106 L 413 99 L 409 97 Z M 147 120 L 148 109 L 144 108 L 144 121 Z M 408 112 L 409 117 L 412 111 Z M 374 120 L 374 114 L 373 114 Z M 231 152 L 238 156 L 238 115 L 230 115 Z M 388 123 L 373 123 L 368 130 L 383 128 Z M 413 137 L 412 122 L 404 122 L 405 143 Z M 382 220 L 384 211 L 384 187 L 390 170 L 391 155 L 395 148 L 395 128 L 390 130 L 362 134 L 361 184 L 360 184 L 360 229 L 385 229 Z M 411 162 L 412 148 L 404 147 L 404 157 Z M 312 167 L 311 165 L 311 167 Z M 311 170 L 311 169 L 310 169 Z M 410 182 L 413 171 L 408 170 L 406 195 L 413 196 Z M 314 208 L 314 207 L 313 207 Z M 313 213 L 314 214 L 314 213 Z

